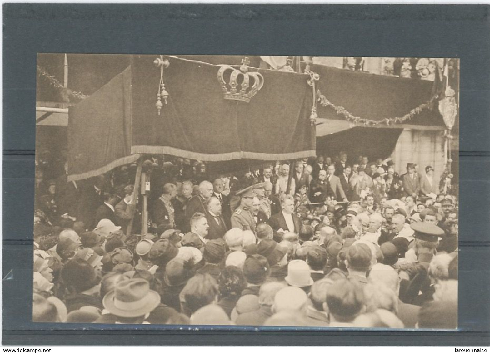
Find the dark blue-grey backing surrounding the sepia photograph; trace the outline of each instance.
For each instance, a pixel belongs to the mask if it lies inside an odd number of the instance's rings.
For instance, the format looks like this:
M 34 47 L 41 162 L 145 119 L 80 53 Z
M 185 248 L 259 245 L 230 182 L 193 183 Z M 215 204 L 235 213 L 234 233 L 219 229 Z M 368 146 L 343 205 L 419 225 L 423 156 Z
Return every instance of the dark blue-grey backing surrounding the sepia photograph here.
M 489 9 L 4 4 L 2 343 L 489 345 Z M 461 58 L 459 331 L 176 332 L 140 326 L 126 332 L 122 326 L 31 323 L 37 52 Z M 84 335 L 82 327 L 89 329 Z

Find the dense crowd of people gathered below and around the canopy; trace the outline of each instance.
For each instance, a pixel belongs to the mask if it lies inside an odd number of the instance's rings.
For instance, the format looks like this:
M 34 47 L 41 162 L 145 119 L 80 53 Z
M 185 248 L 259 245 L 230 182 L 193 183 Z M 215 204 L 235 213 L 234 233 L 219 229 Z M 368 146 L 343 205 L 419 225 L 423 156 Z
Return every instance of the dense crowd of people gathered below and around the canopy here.
M 40 163 L 33 320 L 454 329 L 458 199 L 431 166 L 390 164 L 341 152 L 211 176 L 149 157 L 142 227 L 136 165 L 69 182 Z

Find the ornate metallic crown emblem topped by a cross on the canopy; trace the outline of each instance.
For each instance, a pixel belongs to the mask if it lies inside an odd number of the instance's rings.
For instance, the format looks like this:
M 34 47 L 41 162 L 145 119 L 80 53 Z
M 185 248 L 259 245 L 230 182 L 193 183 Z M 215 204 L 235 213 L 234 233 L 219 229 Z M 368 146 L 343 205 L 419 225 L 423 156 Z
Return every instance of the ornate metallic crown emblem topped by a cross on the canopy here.
M 250 60 L 245 57 L 240 69 L 229 65 L 218 70 L 218 81 L 224 93 L 224 99 L 241 100 L 248 103 L 264 85 L 264 76 L 259 72 L 248 72 Z

